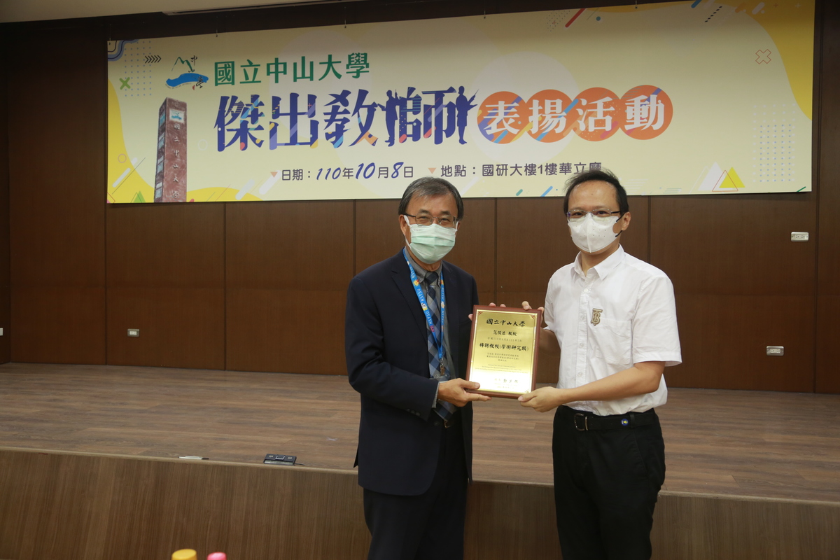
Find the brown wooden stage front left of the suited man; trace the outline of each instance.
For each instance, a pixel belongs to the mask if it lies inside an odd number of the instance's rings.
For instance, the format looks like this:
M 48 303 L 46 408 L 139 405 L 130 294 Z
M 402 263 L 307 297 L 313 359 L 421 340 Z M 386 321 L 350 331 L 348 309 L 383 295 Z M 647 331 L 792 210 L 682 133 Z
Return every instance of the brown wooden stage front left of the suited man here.
M 3 450 L 0 557 L 364 558 L 361 495 L 352 471 Z

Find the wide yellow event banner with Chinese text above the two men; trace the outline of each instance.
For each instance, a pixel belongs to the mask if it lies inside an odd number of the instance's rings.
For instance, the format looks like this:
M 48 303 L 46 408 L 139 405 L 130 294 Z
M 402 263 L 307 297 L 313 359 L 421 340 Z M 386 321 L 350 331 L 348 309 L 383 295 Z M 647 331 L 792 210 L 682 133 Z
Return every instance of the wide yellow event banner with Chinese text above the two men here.
M 811 191 L 814 0 L 108 42 L 108 202 Z

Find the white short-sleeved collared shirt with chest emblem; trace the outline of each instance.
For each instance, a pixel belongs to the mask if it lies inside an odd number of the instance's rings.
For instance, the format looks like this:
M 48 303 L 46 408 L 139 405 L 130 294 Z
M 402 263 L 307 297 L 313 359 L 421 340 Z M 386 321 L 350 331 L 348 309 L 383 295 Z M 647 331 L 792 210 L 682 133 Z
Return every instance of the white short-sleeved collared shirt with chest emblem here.
M 559 389 L 603 379 L 639 362 L 680 364 L 674 286 L 655 266 L 617 251 L 587 271 L 580 254 L 552 275 L 545 322 L 560 344 Z M 567 406 L 600 416 L 643 412 L 668 399 L 664 376 L 653 393 Z

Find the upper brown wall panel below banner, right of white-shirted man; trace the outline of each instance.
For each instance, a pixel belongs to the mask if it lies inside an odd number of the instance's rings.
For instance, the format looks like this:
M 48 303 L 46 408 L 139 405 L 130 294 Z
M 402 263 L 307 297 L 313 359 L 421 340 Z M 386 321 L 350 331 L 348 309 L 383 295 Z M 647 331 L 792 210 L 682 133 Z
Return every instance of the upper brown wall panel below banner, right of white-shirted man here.
M 679 293 L 813 295 L 814 193 L 651 198 L 651 258 Z

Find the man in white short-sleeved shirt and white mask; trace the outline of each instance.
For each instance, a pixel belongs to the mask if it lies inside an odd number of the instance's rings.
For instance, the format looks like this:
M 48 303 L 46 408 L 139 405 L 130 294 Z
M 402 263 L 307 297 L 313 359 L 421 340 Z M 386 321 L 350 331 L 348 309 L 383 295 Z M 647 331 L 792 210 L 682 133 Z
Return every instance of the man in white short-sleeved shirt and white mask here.
M 580 253 L 549 280 L 540 338 L 540 352 L 561 352 L 559 382 L 519 400 L 539 412 L 557 408 L 554 501 L 564 560 L 648 559 L 665 475 L 654 407 L 667 399 L 665 367 L 681 361 L 674 288 L 622 249 L 630 212 L 615 175 L 573 176 L 564 211 Z

